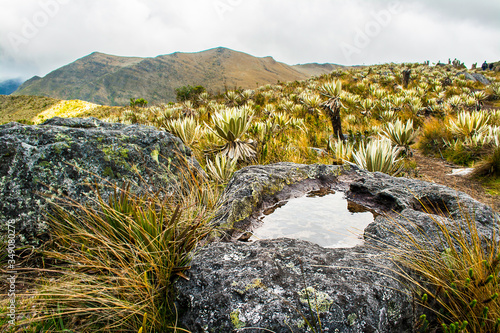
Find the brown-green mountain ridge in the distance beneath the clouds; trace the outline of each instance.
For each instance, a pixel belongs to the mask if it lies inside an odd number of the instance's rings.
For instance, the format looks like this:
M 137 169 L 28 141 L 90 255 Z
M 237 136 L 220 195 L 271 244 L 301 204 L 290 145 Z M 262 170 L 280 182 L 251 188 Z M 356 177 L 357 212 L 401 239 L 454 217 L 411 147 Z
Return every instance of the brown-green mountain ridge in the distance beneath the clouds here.
M 175 89 L 186 85 L 202 85 L 217 93 L 226 88 L 304 80 L 330 71 L 328 64 L 289 66 L 272 57 L 258 58 L 222 47 L 155 58 L 94 52 L 43 78 L 31 78 L 13 95 L 81 99 L 102 105 L 128 105 L 130 98 L 145 98 L 153 104 L 175 101 Z

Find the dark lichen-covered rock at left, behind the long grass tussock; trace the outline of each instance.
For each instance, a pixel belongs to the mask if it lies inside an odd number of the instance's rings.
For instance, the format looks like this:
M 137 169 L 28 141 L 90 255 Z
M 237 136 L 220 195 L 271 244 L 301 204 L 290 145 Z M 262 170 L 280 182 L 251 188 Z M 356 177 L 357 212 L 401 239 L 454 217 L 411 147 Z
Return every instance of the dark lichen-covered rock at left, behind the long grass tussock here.
M 8 223 L 19 235 L 17 246 L 38 245 L 47 232 L 47 195 L 82 201 L 93 194 L 88 184 L 107 182 L 160 190 L 168 184 L 165 167 L 178 173 L 182 156 L 197 165 L 178 138 L 153 127 L 95 118 L 2 125 L 0 235 L 5 235 Z M 110 191 L 102 187 L 101 195 L 106 198 Z

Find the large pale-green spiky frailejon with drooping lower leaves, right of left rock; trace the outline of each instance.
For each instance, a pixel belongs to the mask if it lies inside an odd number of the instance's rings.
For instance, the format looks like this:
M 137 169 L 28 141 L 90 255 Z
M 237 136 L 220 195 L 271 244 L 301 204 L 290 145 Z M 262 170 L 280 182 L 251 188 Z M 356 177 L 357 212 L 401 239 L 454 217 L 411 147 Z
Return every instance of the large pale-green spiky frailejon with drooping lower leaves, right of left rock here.
M 231 108 L 216 113 L 212 117 L 213 128 L 208 128 L 225 144 L 213 151 L 236 161 L 254 160 L 256 155 L 254 142 L 242 140 L 251 120 L 251 110 L 247 107 Z

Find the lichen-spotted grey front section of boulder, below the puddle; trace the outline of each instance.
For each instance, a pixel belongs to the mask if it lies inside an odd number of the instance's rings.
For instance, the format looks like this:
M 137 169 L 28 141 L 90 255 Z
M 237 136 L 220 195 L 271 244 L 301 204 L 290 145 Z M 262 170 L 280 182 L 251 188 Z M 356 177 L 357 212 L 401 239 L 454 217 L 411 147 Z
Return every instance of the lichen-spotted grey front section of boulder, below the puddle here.
M 306 332 L 302 315 L 309 322 L 319 315 L 323 332 L 412 332 L 411 298 L 380 274 L 390 269 L 364 248 L 294 239 L 215 243 L 197 255 L 191 281 L 178 283 L 178 309 L 188 309 L 180 323 L 192 332 Z

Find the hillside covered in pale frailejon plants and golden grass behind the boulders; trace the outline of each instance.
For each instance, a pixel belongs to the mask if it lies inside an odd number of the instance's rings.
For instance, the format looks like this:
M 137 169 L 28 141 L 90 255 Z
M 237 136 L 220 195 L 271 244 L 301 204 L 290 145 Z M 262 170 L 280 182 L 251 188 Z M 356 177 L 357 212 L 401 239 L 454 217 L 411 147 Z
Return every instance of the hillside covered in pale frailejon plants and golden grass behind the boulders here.
M 500 83 L 498 74 L 477 71 L 492 84 L 466 79 L 464 68 L 453 65 L 354 67 L 255 90 L 200 89 L 181 102 L 135 107 L 107 120 L 179 136 L 218 181 L 248 164 L 280 161 L 348 161 L 411 175 L 414 149 L 498 176 Z

